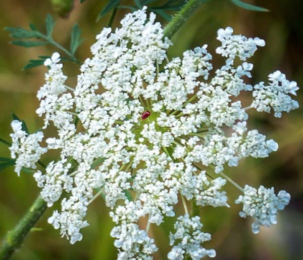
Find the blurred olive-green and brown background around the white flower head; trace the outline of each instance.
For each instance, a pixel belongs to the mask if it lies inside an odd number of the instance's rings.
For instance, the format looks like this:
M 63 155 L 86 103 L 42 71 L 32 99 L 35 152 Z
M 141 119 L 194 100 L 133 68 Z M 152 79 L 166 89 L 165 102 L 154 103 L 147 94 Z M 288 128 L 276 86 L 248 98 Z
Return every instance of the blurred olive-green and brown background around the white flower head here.
M 82 29 L 85 41 L 77 51 L 77 57 L 83 61 L 90 56 L 89 47 L 94 36 L 108 24 L 110 15 L 95 23 L 98 12 L 105 1 L 87 0 L 80 5 L 74 2 L 74 8 L 65 18 L 58 15 L 49 1 L 11 0 L 2 1 L 0 10 L 0 28 L 6 26 L 28 27 L 29 22 L 43 27 L 44 18 L 51 13 L 57 20 L 54 38 L 64 46 L 69 45 L 69 32 L 74 23 Z M 159 1 L 161 3 L 163 1 Z M 248 2 L 248 0 L 247 0 Z M 124 1 L 127 3 L 127 1 Z M 131 1 L 129 1 L 131 3 Z M 250 1 L 268 8 L 268 13 L 246 11 L 232 5 L 227 0 L 212 0 L 204 4 L 173 37 L 174 46 L 170 57 L 179 56 L 188 48 L 209 44 L 209 51 L 215 53 L 218 46 L 216 31 L 218 28 L 232 26 L 235 33 L 246 36 L 259 36 L 267 42 L 250 61 L 255 64 L 251 83 L 266 80 L 267 75 L 280 69 L 289 79 L 303 85 L 303 5 L 300 0 L 268 0 Z M 119 10 L 114 21 L 119 20 L 127 12 Z M 161 20 L 163 23 L 166 21 Z M 44 46 L 25 49 L 9 44 L 8 33 L 0 30 L 0 137 L 9 140 L 12 112 L 25 119 L 30 131 L 41 127 L 41 120 L 35 114 L 38 106 L 36 92 L 44 81 L 43 66 L 28 71 L 21 71 L 24 64 L 38 55 L 49 55 L 55 49 Z M 221 66 L 221 59 L 214 58 L 215 67 Z M 78 67 L 66 63 L 65 71 L 75 82 Z M 303 90 L 297 97 L 303 106 Z M 243 95 L 243 103 L 248 103 L 248 96 Z M 291 193 L 291 202 L 278 216 L 278 225 L 263 228 L 258 235 L 251 233 L 251 220 L 239 218 L 239 205 L 233 200 L 238 196 L 237 190 L 227 185 L 231 208 L 205 207 L 201 219 L 205 231 L 213 234 L 213 239 L 206 247 L 215 248 L 216 259 L 266 259 L 266 260 L 298 260 L 303 259 L 303 117 L 302 108 L 282 119 L 272 114 L 249 111 L 249 128 L 258 128 L 268 138 L 279 143 L 279 150 L 269 158 L 251 159 L 240 162 L 239 167 L 231 168 L 231 175 L 239 184 L 250 184 L 258 187 L 264 184 L 274 186 L 276 191 L 287 190 Z M 51 136 L 49 131 L 46 136 Z M 0 144 L 0 156 L 9 156 L 8 148 Z M 49 161 L 50 158 L 43 158 Z M 8 168 L 0 175 L 0 238 L 11 229 L 28 209 L 39 189 L 29 174 L 20 178 Z M 102 199 L 94 201 L 89 208 L 88 222 L 90 227 L 83 229 L 83 240 L 70 245 L 66 239 L 60 238 L 58 230 L 46 223 L 52 208 L 47 209 L 36 227 L 41 231 L 31 232 L 24 245 L 14 254 L 12 259 L 31 260 L 111 260 L 116 259 L 116 249 L 109 233 L 113 223 L 108 216 L 109 210 Z M 181 212 L 181 210 L 180 210 Z M 159 252 L 156 260 L 166 259 L 169 250 L 168 234 L 172 229 L 169 220 L 161 227 L 153 227 L 151 235 L 156 238 Z

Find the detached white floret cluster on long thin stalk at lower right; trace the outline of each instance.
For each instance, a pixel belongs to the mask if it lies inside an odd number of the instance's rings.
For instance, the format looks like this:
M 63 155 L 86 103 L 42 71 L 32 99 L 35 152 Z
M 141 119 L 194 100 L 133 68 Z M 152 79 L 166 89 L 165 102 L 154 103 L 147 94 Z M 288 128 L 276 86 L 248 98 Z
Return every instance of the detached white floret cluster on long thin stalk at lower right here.
M 244 195 L 240 195 L 235 203 L 243 203 L 243 211 L 239 212 L 241 218 L 251 216 L 255 219 L 256 222 L 252 223 L 251 229 L 257 234 L 260 226 L 270 227 L 277 224 L 277 212 L 284 209 L 289 200 L 290 194 L 286 191 L 279 191 L 276 195 L 274 188 L 266 189 L 260 186 L 257 190 L 245 185 Z

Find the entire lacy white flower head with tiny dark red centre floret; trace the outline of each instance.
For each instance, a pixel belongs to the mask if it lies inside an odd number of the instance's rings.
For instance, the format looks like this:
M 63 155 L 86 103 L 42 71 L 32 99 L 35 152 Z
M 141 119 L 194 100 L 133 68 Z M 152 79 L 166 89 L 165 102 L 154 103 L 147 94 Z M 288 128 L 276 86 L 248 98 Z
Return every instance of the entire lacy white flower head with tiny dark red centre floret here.
M 61 200 L 61 211 L 55 210 L 48 222 L 71 243 L 82 239 L 87 207 L 103 195 L 117 224 L 111 235 L 118 259 L 152 259 L 157 247 L 148 237 L 150 225 L 175 216 L 175 205 L 182 200 L 186 214 L 175 224 L 168 257 L 214 257 L 213 249 L 201 247 L 211 236 L 201 232 L 198 216 L 187 214 L 187 203 L 229 207 L 222 188 L 226 181 L 234 182 L 223 174 L 224 168 L 278 149 L 274 140 L 247 129 L 247 108 L 235 97 L 253 91 L 256 99 L 250 107 L 288 112 L 297 106 L 288 96 L 297 86 L 282 76 L 271 76 L 268 88 L 246 84 L 253 65 L 245 60 L 265 42 L 233 35 L 230 27 L 218 31 L 222 46 L 217 53 L 227 57 L 226 62 L 208 79 L 213 65 L 207 45 L 169 60 L 166 52 L 172 42 L 155 19 L 153 13 L 147 17 L 144 7 L 127 14 L 115 32 L 103 29 L 91 47 L 92 58 L 81 66 L 75 89 L 65 84 L 57 53 L 45 61 L 49 71 L 37 95 L 36 112 L 44 116 L 44 127 L 49 122 L 57 127 L 56 137 L 46 143 L 60 152 L 60 160 L 38 170 L 34 178 L 48 206 Z M 245 62 L 234 67 L 237 57 Z M 13 140 L 12 150 L 18 142 Z M 18 152 L 20 158 L 25 154 Z M 246 194 L 242 198 L 243 203 L 251 201 Z M 254 201 L 258 208 L 265 200 Z M 250 215 L 265 225 L 276 212 L 265 213 Z M 148 219 L 146 230 L 140 229 L 140 218 Z

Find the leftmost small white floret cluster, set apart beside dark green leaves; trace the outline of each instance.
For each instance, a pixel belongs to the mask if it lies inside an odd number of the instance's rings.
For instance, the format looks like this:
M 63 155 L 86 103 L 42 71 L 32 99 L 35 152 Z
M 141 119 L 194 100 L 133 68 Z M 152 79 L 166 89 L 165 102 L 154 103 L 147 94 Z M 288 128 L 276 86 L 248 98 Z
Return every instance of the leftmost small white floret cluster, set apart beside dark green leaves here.
M 22 167 L 37 168 L 36 162 L 47 152 L 47 149 L 39 145 L 44 137 L 42 132 L 27 134 L 22 130 L 22 122 L 18 120 L 13 120 L 11 126 L 13 128 L 13 133 L 10 135 L 12 138 L 11 157 L 17 158 L 15 171 L 20 176 Z

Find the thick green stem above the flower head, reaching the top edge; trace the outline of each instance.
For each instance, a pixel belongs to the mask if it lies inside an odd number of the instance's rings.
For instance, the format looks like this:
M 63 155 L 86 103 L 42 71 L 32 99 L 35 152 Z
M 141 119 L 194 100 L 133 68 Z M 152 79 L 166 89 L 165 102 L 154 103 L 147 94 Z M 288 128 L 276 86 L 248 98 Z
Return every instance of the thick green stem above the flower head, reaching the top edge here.
M 171 38 L 175 32 L 185 23 L 199 5 L 209 0 L 189 0 L 184 7 L 174 16 L 174 18 L 164 28 L 164 35 Z

